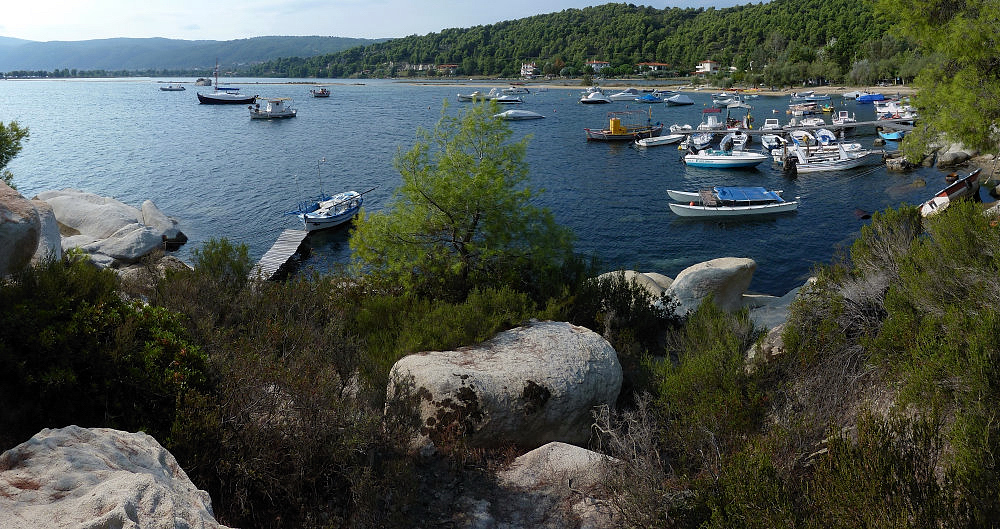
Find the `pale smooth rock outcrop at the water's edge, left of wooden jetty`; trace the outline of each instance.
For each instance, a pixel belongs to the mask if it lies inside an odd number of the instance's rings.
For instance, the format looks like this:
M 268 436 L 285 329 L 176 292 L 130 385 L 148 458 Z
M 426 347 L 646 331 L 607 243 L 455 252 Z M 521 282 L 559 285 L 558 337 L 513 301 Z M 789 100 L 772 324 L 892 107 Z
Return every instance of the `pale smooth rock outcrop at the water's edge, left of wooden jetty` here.
M 134 263 L 149 252 L 187 238 L 177 221 L 152 202 L 142 209 L 76 189 L 45 191 L 36 197 L 52 206 L 62 249 L 79 248 L 100 266 Z

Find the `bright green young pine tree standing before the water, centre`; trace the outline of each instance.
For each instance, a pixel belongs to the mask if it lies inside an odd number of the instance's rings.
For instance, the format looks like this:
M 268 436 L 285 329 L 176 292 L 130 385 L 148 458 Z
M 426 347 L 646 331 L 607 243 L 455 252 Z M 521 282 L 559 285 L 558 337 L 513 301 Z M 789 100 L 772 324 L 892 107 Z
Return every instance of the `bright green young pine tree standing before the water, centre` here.
M 457 115 L 445 103 L 394 160 L 402 185 L 385 212 L 363 211 L 351 249 L 366 271 L 408 290 L 461 299 L 475 286 L 529 291 L 534 274 L 561 263 L 571 235 L 532 204 L 528 138 L 511 141 L 496 103 Z

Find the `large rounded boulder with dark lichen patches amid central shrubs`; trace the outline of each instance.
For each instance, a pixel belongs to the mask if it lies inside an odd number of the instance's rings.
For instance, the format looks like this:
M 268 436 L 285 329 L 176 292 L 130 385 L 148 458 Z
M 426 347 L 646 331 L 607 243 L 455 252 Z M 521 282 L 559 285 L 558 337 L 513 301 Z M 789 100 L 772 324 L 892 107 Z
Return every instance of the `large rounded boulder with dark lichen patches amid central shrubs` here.
M 618 398 L 622 368 L 597 333 L 532 322 L 478 346 L 402 358 L 392 367 L 390 394 L 409 384 L 421 400 L 417 447 L 461 435 L 472 447 L 534 448 L 585 443 L 591 410 Z

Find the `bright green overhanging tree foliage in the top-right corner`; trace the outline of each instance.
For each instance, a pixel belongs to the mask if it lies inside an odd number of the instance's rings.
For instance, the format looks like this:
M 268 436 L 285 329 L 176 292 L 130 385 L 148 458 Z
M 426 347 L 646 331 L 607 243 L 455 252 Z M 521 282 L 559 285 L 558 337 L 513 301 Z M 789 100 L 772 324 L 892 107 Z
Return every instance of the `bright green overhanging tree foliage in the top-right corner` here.
M 1000 4 L 991 0 L 880 0 L 895 29 L 936 60 L 914 83 L 921 126 L 907 136 L 909 154 L 945 133 L 966 147 L 998 151 L 1000 124 Z

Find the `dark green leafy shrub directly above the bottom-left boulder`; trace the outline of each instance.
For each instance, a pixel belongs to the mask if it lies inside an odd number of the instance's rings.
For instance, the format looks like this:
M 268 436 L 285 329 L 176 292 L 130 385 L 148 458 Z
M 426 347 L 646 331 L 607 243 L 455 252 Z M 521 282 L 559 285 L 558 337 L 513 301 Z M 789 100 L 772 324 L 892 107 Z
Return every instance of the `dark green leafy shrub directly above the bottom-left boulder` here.
M 207 384 L 177 315 L 123 300 L 113 272 L 72 253 L 0 282 L 0 328 L 0 448 L 69 424 L 165 439 Z

